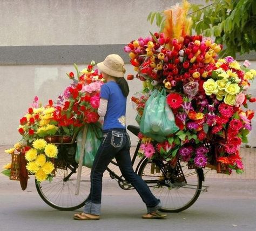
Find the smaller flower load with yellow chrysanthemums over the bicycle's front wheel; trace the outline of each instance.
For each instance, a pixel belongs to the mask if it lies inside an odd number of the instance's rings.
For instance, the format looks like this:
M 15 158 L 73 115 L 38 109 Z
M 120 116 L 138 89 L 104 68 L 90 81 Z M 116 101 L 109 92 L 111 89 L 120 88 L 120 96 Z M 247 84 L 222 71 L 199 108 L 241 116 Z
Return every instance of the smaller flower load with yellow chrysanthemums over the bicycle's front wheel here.
M 48 105 L 42 106 L 35 97 L 28 112 L 20 119 L 18 132 L 22 139 L 5 152 L 24 155 L 26 169 L 35 174 L 37 181 L 50 181 L 54 175 L 53 159 L 57 158 L 58 147 L 49 143 L 49 136 L 76 135 L 80 127 L 99 119 L 97 108 L 103 79 L 98 70 L 93 70 L 94 66 L 95 62 L 91 62 L 86 69 L 78 71 L 75 65 L 77 78 L 73 72 L 67 73 L 73 83 L 56 102 L 50 99 Z M 4 166 L 5 175 L 10 176 L 11 166 Z

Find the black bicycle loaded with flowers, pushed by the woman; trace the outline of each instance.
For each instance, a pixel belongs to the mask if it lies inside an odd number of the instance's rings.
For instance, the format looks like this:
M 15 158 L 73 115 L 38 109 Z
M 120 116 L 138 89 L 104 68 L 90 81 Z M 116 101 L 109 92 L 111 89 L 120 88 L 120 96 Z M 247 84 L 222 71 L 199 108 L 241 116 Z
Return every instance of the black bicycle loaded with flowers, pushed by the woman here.
M 127 127 L 134 135 L 138 136 L 139 127 Z M 132 165 L 137 160 L 140 141 L 138 141 L 132 157 Z M 72 147 L 71 147 L 72 148 Z M 76 210 L 84 206 L 90 191 L 90 169 L 83 166 L 80 180 L 79 194 L 75 195 L 78 164 L 75 158 L 62 157 L 64 165 L 57 166 L 55 176 L 51 182 L 36 181 L 36 189 L 45 203 L 58 210 Z M 116 162 L 111 164 L 118 166 Z M 192 206 L 198 199 L 201 191 L 207 191 L 203 186 L 204 172 L 201 168 L 189 169 L 187 163 L 177 159 L 176 164 L 160 159 L 143 158 L 134 166 L 135 172 L 142 177 L 151 188 L 152 193 L 161 200 L 162 212 L 181 212 Z M 122 175 L 116 174 L 109 167 L 106 169 L 111 179 L 116 179 L 120 188 L 134 189 Z M 202 189 L 205 187 L 204 189 Z

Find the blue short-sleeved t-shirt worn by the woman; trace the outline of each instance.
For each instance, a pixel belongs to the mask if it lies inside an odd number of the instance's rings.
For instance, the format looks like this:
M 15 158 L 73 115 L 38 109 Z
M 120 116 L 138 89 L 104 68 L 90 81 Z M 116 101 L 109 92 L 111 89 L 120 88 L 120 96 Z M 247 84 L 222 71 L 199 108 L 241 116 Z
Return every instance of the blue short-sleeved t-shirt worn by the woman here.
M 103 84 L 100 88 L 100 98 L 108 100 L 103 130 L 125 128 L 126 97 L 119 85 L 114 81 Z

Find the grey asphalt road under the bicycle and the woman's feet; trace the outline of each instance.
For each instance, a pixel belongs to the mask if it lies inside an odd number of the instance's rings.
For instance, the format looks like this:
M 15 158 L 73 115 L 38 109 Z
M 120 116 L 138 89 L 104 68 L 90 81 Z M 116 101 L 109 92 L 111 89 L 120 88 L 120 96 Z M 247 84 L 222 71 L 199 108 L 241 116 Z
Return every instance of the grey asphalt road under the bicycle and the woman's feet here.
M 33 179 L 22 191 L 18 181 L 0 176 L 0 231 L 23 230 L 255 230 L 256 180 L 206 178 L 208 192 L 181 213 L 165 220 L 144 220 L 145 206 L 135 191 L 123 191 L 114 180 L 104 179 L 102 217 L 76 221 L 75 212 L 46 205 L 36 192 Z

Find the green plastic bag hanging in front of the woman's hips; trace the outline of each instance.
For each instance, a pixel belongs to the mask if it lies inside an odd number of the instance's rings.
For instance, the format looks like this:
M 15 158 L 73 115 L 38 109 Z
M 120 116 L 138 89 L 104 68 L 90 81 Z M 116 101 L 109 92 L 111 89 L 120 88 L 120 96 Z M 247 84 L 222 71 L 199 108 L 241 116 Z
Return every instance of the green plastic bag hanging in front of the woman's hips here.
M 92 168 L 95 155 L 98 151 L 100 142 L 102 141 L 103 133 L 102 133 L 102 127 L 99 123 L 88 124 L 87 126 L 88 126 L 88 129 L 87 129 L 85 148 L 84 148 L 83 166 Z M 82 138 L 83 138 L 83 130 L 81 130 L 77 134 L 77 149 L 76 149 L 76 157 L 75 157 L 75 160 L 77 163 L 79 162 L 80 151 L 83 145 Z

